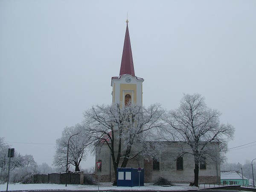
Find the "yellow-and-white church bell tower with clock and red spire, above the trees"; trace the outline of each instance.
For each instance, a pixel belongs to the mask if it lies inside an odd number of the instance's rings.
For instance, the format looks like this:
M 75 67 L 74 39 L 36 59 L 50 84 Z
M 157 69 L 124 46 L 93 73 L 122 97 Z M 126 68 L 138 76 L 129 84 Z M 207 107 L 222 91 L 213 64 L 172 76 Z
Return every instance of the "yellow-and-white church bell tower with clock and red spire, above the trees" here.
M 128 29 L 128 20 L 126 20 L 126 31 L 124 48 L 119 76 L 111 78 L 112 103 L 126 105 L 129 101 L 142 106 L 143 92 L 142 83 L 144 79 L 135 76 L 134 64 L 131 52 L 131 41 Z

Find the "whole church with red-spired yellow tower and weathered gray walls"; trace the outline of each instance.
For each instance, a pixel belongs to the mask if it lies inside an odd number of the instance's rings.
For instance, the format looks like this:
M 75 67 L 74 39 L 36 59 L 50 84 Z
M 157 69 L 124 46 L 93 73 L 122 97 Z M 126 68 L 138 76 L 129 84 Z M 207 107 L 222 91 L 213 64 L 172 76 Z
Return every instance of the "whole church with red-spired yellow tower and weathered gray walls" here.
M 122 60 L 119 76 L 111 78 L 112 104 L 125 105 L 128 102 L 138 106 L 143 106 L 143 78 L 135 76 L 134 63 L 131 51 L 131 41 L 128 30 L 128 20 L 126 20 L 126 31 Z M 186 147 L 184 143 L 165 143 L 163 152 L 159 157 L 145 160 L 143 156 L 130 159 L 127 168 L 144 169 L 144 182 L 153 183 L 158 177 L 164 177 L 172 183 L 189 183 L 194 180 L 194 157 L 189 154 L 179 156 L 180 147 Z M 182 146 L 181 146 L 182 145 Z M 183 146 L 184 145 L 184 146 Z M 218 143 L 212 143 L 212 153 L 216 159 L 205 158 L 200 163 L 199 183 L 220 182 L 220 160 Z M 134 149 L 136 150 L 136 149 Z M 100 182 L 113 182 L 115 173 L 111 153 L 107 145 L 102 145 L 99 152 L 96 152 L 96 162 L 101 162 L 99 172 L 96 166 L 96 177 Z

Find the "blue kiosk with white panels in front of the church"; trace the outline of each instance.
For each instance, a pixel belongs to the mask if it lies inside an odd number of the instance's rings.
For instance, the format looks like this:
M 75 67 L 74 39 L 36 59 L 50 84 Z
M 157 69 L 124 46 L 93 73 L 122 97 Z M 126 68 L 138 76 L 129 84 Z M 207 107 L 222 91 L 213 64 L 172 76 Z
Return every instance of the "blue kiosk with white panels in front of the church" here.
M 144 186 L 144 169 L 117 168 L 117 186 Z

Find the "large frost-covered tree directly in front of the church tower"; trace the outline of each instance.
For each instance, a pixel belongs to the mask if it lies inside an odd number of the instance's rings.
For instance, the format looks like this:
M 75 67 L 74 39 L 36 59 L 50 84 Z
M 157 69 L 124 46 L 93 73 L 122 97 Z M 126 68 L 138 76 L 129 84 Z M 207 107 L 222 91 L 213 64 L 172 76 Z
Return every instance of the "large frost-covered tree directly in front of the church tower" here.
M 128 160 L 138 154 L 153 151 L 150 142 L 145 141 L 151 140 L 150 137 L 161 127 L 162 114 L 159 104 L 143 108 L 131 103 L 97 105 L 84 112 L 85 132 L 95 144 L 94 151 L 103 145 L 108 146 L 116 179 L 118 167 L 126 167 Z M 135 144 L 136 150 L 132 151 Z

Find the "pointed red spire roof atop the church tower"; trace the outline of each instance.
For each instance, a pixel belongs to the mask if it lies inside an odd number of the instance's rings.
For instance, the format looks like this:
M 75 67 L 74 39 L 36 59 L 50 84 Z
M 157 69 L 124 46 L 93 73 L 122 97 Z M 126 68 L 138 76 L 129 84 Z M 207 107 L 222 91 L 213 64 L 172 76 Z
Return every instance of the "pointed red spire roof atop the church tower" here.
M 119 76 L 125 75 L 125 74 L 130 74 L 131 76 L 135 76 L 132 53 L 131 53 L 131 42 L 130 42 L 130 36 L 129 36 L 129 30 L 128 30 L 128 20 L 126 20 L 125 42 L 124 42 Z

